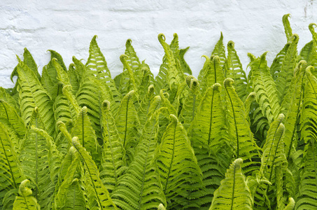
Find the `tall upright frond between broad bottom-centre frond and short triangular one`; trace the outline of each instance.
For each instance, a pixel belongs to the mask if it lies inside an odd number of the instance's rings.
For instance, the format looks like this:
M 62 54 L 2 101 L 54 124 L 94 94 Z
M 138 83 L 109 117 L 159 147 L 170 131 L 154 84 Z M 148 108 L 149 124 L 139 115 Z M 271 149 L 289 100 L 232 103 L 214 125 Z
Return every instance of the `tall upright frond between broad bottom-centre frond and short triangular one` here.
M 201 209 L 210 207 L 210 198 L 220 186 L 220 181 L 225 178 L 225 170 L 232 157 L 232 151 L 227 145 L 230 144 L 230 138 L 225 125 L 220 91 L 219 83 L 206 90 L 188 134 L 198 165 L 202 169 L 202 181 L 206 188 L 202 190 L 204 196 L 199 198 Z

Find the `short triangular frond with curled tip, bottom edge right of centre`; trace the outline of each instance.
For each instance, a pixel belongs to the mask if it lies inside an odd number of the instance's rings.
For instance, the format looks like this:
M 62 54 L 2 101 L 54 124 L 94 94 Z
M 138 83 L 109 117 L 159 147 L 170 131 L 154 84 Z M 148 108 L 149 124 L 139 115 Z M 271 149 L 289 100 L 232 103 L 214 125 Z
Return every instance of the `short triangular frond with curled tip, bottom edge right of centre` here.
M 225 179 L 215 191 L 210 210 L 213 209 L 253 209 L 251 192 L 246 185 L 246 178 L 242 174 L 243 160 L 234 160 L 227 169 Z

